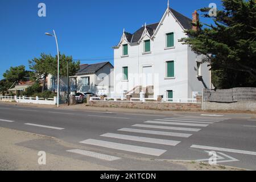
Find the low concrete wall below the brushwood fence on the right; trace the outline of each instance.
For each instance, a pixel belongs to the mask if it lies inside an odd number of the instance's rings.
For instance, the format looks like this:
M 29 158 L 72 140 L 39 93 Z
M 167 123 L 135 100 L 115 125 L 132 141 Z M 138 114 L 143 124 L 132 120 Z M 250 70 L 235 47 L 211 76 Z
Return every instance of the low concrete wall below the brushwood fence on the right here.
M 232 102 L 232 103 L 220 103 L 220 102 L 203 102 L 202 110 L 241 110 L 241 111 L 256 111 L 255 102 Z

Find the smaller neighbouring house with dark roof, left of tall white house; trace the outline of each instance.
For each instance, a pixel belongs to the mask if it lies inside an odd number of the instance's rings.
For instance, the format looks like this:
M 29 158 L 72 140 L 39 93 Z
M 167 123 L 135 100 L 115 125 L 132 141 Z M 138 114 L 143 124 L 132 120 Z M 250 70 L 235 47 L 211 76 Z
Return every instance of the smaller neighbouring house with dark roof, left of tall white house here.
M 113 65 L 109 62 L 82 64 L 75 76 L 69 77 L 71 92 L 90 92 L 110 96 L 113 90 Z M 57 90 L 57 79 L 48 76 L 48 89 Z M 67 91 L 67 77 L 60 79 L 60 92 Z

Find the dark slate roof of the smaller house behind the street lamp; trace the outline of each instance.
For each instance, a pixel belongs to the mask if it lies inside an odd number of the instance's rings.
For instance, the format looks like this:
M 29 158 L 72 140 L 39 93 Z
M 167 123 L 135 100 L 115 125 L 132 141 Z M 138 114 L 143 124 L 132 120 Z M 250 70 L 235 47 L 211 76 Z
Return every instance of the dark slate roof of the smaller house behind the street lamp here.
M 97 63 L 97 64 L 82 64 L 80 65 L 79 72 L 76 73 L 76 76 L 96 73 L 106 64 L 110 64 L 113 67 L 113 65 L 109 62 Z

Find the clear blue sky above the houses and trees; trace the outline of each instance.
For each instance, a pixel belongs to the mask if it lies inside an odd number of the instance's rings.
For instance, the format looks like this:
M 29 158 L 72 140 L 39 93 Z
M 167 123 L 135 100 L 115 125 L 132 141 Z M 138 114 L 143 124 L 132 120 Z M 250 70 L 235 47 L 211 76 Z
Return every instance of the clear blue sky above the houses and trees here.
M 46 4 L 46 17 L 38 16 L 40 2 Z M 212 2 L 221 8 L 220 0 L 170 0 L 170 6 L 191 18 Z M 0 79 L 10 67 L 28 69 L 28 60 L 42 52 L 56 55 L 54 38 L 44 35 L 52 29 L 61 53 L 89 60 L 83 64 L 113 63 L 112 47 L 123 28 L 133 33 L 145 22 L 159 22 L 166 8 L 167 0 L 0 0 Z

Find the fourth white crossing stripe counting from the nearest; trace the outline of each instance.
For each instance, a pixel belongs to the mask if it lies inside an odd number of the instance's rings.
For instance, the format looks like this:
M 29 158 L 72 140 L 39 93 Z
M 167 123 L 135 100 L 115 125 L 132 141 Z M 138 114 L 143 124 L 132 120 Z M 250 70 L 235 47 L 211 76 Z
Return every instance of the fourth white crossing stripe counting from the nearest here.
M 169 136 L 169 137 L 182 137 L 182 138 L 189 138 L 192 134 L 187 133 L 172 133 L 166 131 L 154 131 L 154 130 L 139 130 L 139 129 L 119 129 L 118 131 L 126 131 L 130 133 L 143 133 L 143 134 L 151 134 L 151 135 L 162 135 L 162 136 Z

